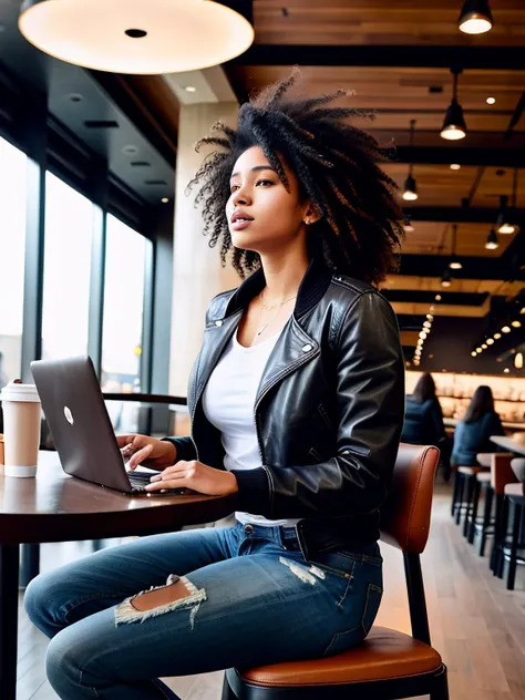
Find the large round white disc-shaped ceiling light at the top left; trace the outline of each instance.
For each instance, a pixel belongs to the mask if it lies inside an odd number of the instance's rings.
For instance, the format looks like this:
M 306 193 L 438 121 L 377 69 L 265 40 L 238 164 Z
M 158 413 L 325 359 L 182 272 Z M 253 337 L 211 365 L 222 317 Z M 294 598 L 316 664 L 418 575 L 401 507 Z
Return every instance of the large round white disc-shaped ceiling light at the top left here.
M 68 63 L 143 75 L 217 65 L 254 41 L 241 14 L 210 0 L 24 0 L 19 28 Z

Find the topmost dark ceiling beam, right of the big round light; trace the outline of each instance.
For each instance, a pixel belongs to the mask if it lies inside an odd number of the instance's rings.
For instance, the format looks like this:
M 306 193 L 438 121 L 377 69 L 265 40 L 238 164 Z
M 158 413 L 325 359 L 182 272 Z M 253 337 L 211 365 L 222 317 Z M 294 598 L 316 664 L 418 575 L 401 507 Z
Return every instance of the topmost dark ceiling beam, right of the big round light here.
M 231 61 L 241 65 L 362 65 L 525 70 L 523 47 L 393 47 L 253 44 Z

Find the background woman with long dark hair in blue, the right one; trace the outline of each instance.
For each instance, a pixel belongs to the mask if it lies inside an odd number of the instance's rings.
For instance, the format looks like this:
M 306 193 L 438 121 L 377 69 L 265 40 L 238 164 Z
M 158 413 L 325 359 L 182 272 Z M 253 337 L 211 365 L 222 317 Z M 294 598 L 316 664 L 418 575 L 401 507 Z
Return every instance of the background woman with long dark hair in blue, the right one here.
M 466 411 L 454 431 L 453 466 L 477 466 L 480 452 L 497 452 L 491 435 L 504 435 L 502 421 L 494 410 L 490 387 L 477 387 Z

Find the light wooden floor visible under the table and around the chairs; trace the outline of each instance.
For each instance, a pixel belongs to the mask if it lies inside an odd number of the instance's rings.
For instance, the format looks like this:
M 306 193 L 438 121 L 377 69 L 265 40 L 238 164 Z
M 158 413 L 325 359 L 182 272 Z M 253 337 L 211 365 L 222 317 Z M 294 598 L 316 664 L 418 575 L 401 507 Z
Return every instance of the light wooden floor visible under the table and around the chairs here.
M 449 667 L 451 700 L 525 700 L 525 567 L 516 590 L 492 576 L 450 517 L 450 490 L 439 486 L 423 555 L 433 646 Z M 42 567 L 90 552 L 89 543 L 44 545 Z M 377 622 L 409 632 L 402 559 L 382 545 L 385 593 Z M 17 700 L 52 700 L 44 675 L 47 640 L 21 611 Z M 183 700 L 218 700 L 223 673 L 171 679 Z

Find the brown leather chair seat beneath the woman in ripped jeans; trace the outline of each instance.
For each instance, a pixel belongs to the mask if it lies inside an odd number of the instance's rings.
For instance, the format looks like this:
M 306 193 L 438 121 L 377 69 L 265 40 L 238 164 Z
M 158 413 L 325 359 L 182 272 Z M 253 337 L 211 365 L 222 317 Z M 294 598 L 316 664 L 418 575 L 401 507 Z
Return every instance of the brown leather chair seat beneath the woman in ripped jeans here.
M 362 645 L 343 653 L 259 666 L 240 676 L 256 686 L 332 686 L 418 676 L 441 665 L 432 647 L 394 629 L 373 627 Z

